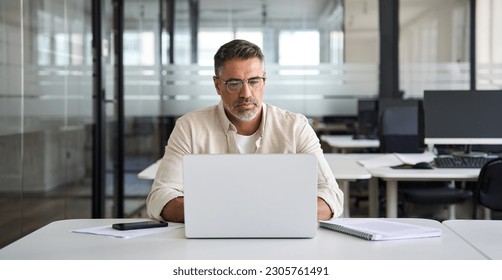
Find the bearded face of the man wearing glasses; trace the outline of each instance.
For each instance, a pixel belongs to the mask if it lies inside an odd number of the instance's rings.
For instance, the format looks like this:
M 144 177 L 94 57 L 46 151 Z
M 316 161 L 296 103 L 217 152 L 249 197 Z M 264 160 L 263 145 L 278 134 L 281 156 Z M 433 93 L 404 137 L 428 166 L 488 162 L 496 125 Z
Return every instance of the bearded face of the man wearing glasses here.
M 265 91 L 265 77 L 263 64 L 260 59 L 254 57 L 250 59 L 232 59 L 225 62 L 220 77 L 214 77 L 214 85 L 218 95 L 221 96 L 225 111 L 230 121 L 246 122 L 261 116 L 262 99 Z M 253 79 L 257 78 L 257 79 Z M 248 84 L 247 81 L 251 79 Z M 229 91 L 225 81 L 230 88 L 232 82 L 244 80 L 242 88 L 238 91 Z M 263 83 L 263 87 L 252 87 L 253 80 Z

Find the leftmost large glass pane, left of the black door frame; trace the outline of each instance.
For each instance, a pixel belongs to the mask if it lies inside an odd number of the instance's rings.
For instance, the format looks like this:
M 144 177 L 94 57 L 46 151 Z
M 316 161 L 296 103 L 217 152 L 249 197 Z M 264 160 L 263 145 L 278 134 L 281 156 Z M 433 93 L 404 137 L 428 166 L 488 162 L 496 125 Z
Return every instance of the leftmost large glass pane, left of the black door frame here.
M 91 215 L 89 3 L 0 2 L 0 247 Z

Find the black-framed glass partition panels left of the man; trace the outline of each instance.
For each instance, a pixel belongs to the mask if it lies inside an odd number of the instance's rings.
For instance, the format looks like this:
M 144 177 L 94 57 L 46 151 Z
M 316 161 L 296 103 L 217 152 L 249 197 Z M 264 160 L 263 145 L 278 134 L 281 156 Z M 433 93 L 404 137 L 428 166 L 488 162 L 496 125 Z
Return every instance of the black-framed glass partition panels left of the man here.
M 125 1 L 124 210 L 142 215 L 151 182 L 137 174 L 159 157 L 157 0 Z M 91 1 L 0 2 L 0 247 L 46 225 L 92 215 Z M 105 216 L 117 170 L 112 2 L 103 2 Z M 153 98 L 152 98 L 153 97 Z M 7 160 L 9 159 L 9 160 Z

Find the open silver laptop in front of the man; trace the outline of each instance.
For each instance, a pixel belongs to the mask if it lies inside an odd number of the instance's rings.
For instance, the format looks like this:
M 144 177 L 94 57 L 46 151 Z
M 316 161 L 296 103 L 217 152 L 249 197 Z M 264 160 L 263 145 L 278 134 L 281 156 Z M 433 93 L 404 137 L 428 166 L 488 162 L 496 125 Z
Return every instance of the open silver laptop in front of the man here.
M 186 155 L 183 184 L 187 238 L 316 234 L 315 155 Z

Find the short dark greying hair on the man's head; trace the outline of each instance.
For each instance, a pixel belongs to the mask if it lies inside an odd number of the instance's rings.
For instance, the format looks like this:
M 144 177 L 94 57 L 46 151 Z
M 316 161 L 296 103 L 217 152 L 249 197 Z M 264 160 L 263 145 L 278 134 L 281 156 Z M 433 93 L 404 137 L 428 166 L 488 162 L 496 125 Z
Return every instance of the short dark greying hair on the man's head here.
M 249 59 L 257 57 L 261 62 L 265 57 L 260 47 L 246 40 L 233 40 L 221 46 L 214 55 L 214 73 L 216 76 L 221 75 L 223 64 L 225 61 L 240 58 Z

